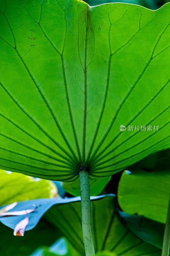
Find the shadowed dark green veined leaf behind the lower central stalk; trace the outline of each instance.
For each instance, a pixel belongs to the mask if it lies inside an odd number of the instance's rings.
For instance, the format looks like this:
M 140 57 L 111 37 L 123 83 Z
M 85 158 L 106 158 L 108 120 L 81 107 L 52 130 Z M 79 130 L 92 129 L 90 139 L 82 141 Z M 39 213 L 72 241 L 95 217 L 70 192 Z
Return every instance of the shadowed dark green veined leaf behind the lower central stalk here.
M 116 210 L 115 204 L 116 197 L 111 195 L 91 201 L 95 252 L 108 250 L 122 256 L 160 256 L 161 250 L 158 248 L 162 246 L 165 225 L 148 220 L 149 224 L 150 221 L 152 223 L 149 226 L 148 223 L 147 226 L 144 226 L 143 223 L 140 225 L 141 221 L 139 220 L 138 232 L 134 232 L 134 230 L 131 232 Z M 62 231 L 68 242 L 80 255 L 85 255 L 80 202 L 54 205 L 45 213 L 44 217 Z M 138 238 L 141 231 L 142 239 L 148 243 Z M 150 234 L 154 235 L 150 236 Z

